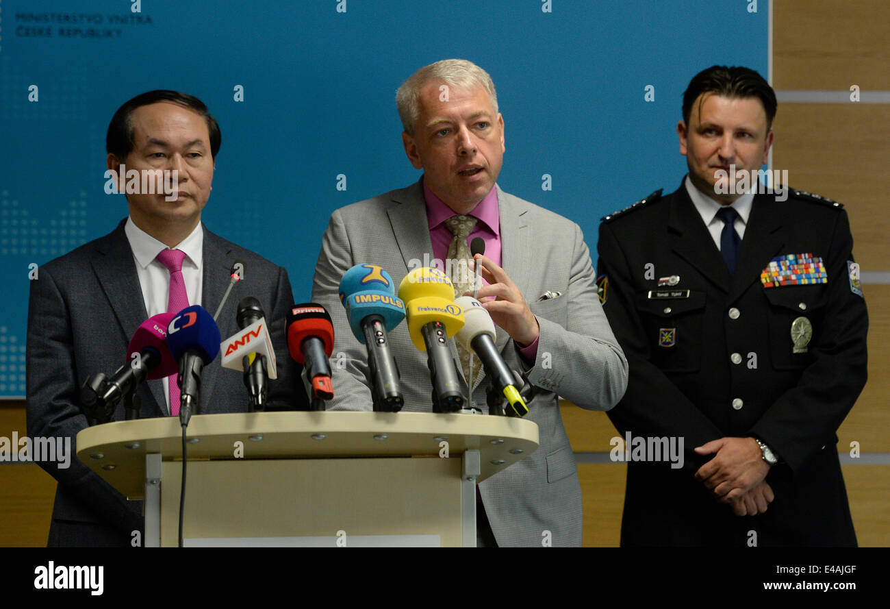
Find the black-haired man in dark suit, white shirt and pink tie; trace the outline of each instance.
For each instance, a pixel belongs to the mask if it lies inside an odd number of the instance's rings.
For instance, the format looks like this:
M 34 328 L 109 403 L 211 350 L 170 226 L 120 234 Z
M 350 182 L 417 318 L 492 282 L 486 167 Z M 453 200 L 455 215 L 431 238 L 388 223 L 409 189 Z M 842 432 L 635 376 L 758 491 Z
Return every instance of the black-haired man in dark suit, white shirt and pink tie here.
M 142 321 L 168 311 L 168 294 L 184 289 L 188 304 L 211 313 L 223 300 L 236 262 L 238 281 L 217 319 L 223 337 L 238 331 L 237 306 L 245 296 L 263 305 L 271 322 L 278 379 L 270 382 L 269 407 L 307 408 L 300 369 L 287 353 L 284 324 L 293 294 L 287 272 L 217 237 L 200 222 L 210 196 L 219 126 L 195 97 L 174 91 L 142 93 L 111 119 L 108 167 L 120 175 L 129 217 L 117 229 L 38 269 L 28 307 L 28 435 L 66 436 L 76 452 L 77 432 L 87 420 L 80 387 L 97 372 L 109 374 L 127 359 L 127 345 Z M 126 169 L 125 169 L 125 167 Z M 160 171 L 165 188 L 127 188 L 128 170 Z M 148 190 L 148 189 L 146 189 Z M 156 256 L 181 256 L 180 279 Z M 247 410 L 242 375 L 222 370 L 221 358 L 206 366 L 200 406 L 205 414 Z M 177 410 L 167 378 L 138 389 L 140 416 Z M 115 419 L 124 418 L 123 405 Z M 70 467 L 41 463 L 58 481 L 51 546 L 125 546 L 140 540 L 142 503 L 128 501 L 77 458 Z

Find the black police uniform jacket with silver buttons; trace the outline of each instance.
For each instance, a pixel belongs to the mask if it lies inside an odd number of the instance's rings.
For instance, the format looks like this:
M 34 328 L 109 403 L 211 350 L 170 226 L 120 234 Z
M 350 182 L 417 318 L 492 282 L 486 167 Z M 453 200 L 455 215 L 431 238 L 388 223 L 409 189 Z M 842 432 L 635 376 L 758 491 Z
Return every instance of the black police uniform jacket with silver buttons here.
M 842 206 L 788 194 L 755 196 L 732 276 L 682 183 L 603 218 L 601 299 L 630 369 L 609 418 L 632 438 L 684 440 L 683 467 L 628 463 L 622 545 L 856 545 L 836 431 L 865 384 L 868 315 Z M 761 272 L 789 254 L 821 256 L 828 282 L 765 288 Z M 727 436 L 781 459 L 763 515 L 734 516 L 693 477 L 713 455 L 692 449 Z

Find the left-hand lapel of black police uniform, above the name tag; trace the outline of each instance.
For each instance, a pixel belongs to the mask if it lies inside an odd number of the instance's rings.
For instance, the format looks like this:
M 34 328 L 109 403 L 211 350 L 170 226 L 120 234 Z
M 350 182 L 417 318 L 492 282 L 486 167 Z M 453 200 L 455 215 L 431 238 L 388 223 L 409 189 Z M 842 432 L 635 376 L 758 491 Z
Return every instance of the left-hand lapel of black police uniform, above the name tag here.
M 670 205 L 667 228 L 671 248 L 717 288 L 729 292 L 729 269 L 683 184 L 674 193 Z

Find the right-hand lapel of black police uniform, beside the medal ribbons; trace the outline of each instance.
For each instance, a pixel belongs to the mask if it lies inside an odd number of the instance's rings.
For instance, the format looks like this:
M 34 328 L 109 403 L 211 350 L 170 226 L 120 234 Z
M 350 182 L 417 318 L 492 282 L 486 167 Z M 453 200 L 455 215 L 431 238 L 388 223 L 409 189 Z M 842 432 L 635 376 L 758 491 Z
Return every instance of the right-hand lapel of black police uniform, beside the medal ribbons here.
M 781 220 L 776 207 L 781 205 L 770 195 L 756 195 L 741 240 L 739 262 L 732 276 L 729 302 L 741 296 L 752 283 L 760 279 L 766 261 L 776 256 L 784 240 L 779 229 Z

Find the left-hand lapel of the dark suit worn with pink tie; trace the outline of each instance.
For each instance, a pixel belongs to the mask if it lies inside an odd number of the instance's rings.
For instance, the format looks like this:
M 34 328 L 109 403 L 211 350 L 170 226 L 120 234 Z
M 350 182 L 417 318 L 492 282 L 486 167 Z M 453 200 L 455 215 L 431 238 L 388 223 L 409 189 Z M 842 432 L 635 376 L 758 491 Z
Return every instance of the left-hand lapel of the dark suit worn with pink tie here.
M 142 321 L 149 318 L 149 313 L 145 310 L 145 298 L 136 274 L 133 250 L 130 248 L 130 241 L 126 239 L 125 222 L 123 220 L 119 223 L 114 232 L 96 244 L 93 272 L 99 278 L 99 285 L 109 300 L 121 333 L 129 342 Z M 148 385 L 155 399 L 150 410 L 157 411 L 154 413 L 156 417 L 163 416 L 166 410 L 161 407 L 161 404 L 166 404 L 164 387 L 154 381 L 149 381 Z

